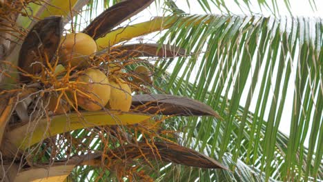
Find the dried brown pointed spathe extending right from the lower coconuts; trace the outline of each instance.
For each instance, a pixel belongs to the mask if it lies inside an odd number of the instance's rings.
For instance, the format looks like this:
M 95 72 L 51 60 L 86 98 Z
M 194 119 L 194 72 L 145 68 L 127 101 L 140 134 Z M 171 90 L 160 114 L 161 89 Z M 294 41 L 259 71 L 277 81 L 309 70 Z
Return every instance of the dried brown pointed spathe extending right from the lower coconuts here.
M 219 114 L 210 106 L 189 99 L 169 94 L 139 94 L 133 96 L 132 108 L 134 111 L 150 114 L 165 114 L 178 116 L 214 116 L 221 119 Z

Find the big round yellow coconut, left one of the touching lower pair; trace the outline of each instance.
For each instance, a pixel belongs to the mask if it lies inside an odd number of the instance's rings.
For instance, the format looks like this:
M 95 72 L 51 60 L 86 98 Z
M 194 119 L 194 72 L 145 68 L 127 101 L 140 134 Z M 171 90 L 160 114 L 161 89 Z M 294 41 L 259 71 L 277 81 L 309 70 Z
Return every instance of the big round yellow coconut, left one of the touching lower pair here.
M 110 99 L 110 83 L 100 70 L 86 70 L 77 78 L 77 105 L 84 110 L 101 110 Z

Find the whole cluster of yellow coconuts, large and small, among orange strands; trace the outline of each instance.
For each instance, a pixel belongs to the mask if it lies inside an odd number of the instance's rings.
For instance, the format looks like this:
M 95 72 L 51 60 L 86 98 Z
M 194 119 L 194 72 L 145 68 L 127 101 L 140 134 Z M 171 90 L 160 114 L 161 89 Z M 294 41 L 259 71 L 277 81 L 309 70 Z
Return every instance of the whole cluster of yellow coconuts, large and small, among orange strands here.
M 119 77 L 108 77 L 104 70 L 110 74 L 121 71 L 121 65 L 110 63 L 108 69 L 99 70 L 90 68 L 92 59 L 88 59 L 97 52 L 97 44 L 88 34 L 75 33 L 67 34 L 61 39 L 59 47 L 59 65 L 55 75 L 66 74 L 66 67 L 77 68 L 79 74 L 76 79 L 73 91 L 68 94 L 68 101 L 63 97 L 49 95 L 46 98 L 48 110 L 55 114 L 63 114 L 71 110 L 71 105 L 88 111 L 101 110 L 130 110 L 132 96 L 129 81 Z M 139 65 L 134 70 L 136 77 L 131 82 L 140 85 L 144 81 L 152 83 L 150 71 L 145 66 Z

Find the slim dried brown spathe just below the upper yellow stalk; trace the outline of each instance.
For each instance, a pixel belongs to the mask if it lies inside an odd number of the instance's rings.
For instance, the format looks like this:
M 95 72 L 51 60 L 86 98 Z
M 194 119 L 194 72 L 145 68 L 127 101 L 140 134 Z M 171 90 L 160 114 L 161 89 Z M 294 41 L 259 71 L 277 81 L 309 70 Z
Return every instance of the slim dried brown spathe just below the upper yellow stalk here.
M 115 50 L 122 52 L 119 57 L 182 57 L 186 50 L 173 45 L 160 45 L 158 43 L 135 43 L 116 47 Z M 118 58 L 118 57 L 117 57 Z

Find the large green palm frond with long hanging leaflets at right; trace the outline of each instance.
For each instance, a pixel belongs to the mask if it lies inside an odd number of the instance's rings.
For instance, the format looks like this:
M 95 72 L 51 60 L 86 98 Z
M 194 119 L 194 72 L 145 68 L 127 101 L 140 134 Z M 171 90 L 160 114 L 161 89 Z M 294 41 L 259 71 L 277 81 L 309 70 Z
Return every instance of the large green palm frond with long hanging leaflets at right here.
M 219 148 L 220 158 L 231 152 L 233 161 L 259 168 L 266 179 L 322 179 L 322 19 L 196 15 L 185 21 L 161 42 L 204 53 L 161 61 L 161 70 L 173 69 L 159 86 L 206 101 L 224 121 L 212 128 L 211 119 L 183 119 L 184 143 L 194 137 L 204 148 Z M 282 114 L 291 117 L 289 139 L 278 131 Z

